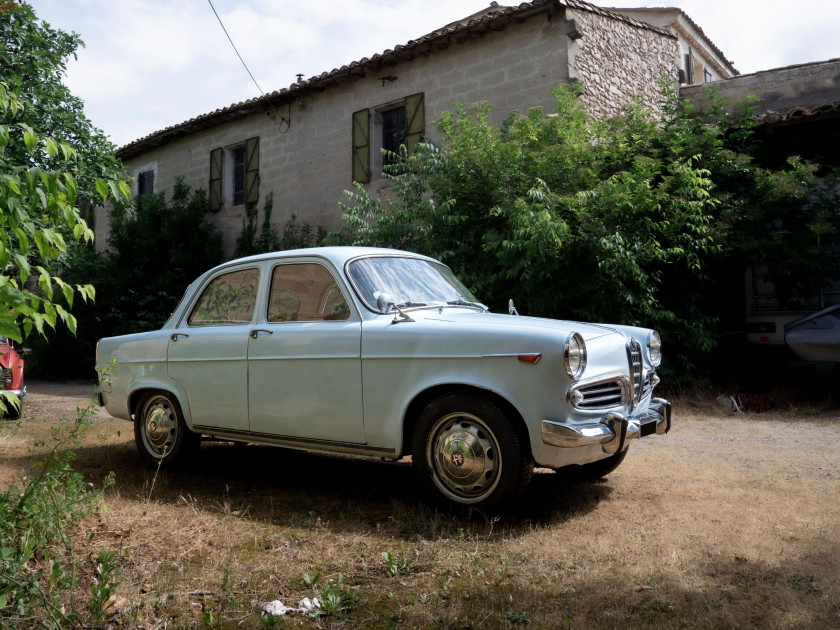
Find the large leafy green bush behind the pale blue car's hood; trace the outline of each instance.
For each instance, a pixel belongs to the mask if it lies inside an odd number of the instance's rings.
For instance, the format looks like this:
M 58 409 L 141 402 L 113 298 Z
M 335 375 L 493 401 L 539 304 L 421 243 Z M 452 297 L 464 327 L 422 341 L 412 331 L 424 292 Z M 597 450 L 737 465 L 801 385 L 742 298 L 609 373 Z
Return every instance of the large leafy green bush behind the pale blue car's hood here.
M 760 154 L 749 103 L 726 114 L 711 95 L 692 117 L 666 90 L 664 120 L 634 102 L 593 121 L 575 88 L 554 97 L 551 114 L 501 126 L 486 104 L 444 114 L 442 146 L 392 155 L 384 201 L 347 192 L 329 241 L 434 256 L 494 310 L 515 298 L 529 315 L 660 329 L 686 375 L 714 349 L 725 309 L 742 309 L 743 287 L 719 282 L 733 266 L 740 280 L 767 265 L 792 296 L 837 273 L 815 239 L 840 227 L 836 177 L 820 182 L 798 160 L 762 167 L 748 153 Z

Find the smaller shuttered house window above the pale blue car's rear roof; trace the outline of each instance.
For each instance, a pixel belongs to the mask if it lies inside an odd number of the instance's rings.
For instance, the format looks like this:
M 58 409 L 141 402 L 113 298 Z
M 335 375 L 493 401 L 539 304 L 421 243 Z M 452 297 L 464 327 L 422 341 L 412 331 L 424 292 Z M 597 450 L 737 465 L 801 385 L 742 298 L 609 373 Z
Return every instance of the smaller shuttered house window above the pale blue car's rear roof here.
M 259 199 L 260 139 L 219 147 L 210 152 L 210 209 L 257 203 Z

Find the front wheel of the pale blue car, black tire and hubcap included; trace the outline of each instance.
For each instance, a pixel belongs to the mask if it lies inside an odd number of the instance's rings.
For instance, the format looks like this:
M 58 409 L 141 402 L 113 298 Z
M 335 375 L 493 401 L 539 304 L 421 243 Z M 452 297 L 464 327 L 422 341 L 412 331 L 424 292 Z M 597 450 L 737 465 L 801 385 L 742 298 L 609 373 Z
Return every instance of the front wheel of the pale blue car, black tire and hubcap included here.
M 510 420 L 491 401 L 451 394 L 423 410 L 411 444 L 414 470 L 437 499 L 496 507 L 520 493 L 534 469 Z

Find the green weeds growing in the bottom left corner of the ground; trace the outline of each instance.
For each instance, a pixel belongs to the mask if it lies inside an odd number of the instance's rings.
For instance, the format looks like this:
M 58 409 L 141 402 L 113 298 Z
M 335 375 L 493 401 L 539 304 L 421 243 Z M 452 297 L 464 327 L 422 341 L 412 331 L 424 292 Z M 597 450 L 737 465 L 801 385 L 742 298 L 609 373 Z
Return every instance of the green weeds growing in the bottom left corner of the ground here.
M 100 552 L 87 616 L 68 594 L 77 586 L 82 559 L 70 532 L 100 504 L 94 489 L 72 468 L 72 449 L 92 426 L 95 401 L 77 410 L 74 422 L 52 430 L 51 444 L 34 458 L 21 486 L 0 492 L 0 626 L 3 628 L 92 627 L 101 621 L 100 601 L 113 591 L 116 555 Z

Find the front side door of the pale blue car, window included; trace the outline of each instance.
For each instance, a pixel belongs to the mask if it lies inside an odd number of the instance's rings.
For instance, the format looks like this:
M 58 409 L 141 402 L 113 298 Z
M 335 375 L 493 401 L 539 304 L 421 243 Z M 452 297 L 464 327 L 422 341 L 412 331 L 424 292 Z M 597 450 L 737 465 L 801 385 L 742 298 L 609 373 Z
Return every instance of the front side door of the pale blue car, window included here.
M 263 324 L 248 343 L 251 431 L 364 443 L 361 320 L 318 261 L 271 272 Z

